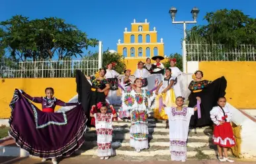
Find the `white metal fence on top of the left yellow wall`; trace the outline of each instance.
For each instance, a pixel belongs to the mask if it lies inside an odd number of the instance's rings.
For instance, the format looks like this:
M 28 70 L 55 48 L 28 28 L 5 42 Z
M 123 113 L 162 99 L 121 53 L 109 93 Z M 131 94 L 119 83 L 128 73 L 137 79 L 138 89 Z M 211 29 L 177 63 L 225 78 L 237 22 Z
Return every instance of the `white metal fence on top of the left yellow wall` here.
M 24 61 L 15 63 L 1 60 L 0 78 L 71 78 L 79 69 L 91 75 L 99 70 L 98 57 L 85 57 L 81 60 Z

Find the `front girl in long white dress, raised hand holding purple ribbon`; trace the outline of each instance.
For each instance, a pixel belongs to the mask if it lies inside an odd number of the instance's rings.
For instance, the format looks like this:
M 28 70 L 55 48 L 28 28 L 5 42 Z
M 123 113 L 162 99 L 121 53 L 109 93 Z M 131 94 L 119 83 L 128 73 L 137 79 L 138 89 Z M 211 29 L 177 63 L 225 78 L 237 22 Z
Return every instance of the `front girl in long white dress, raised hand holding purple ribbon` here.
M 200 97 L 196 97 L 200 101 Z M 165 107 L 165 113 L 169 118 L 169 136 L 171 161 L 183 161 L 187 159 L 187 138 L 189 121 L 197 107 L 183 107 L 184 98 L 176 98 L 177 107 Z

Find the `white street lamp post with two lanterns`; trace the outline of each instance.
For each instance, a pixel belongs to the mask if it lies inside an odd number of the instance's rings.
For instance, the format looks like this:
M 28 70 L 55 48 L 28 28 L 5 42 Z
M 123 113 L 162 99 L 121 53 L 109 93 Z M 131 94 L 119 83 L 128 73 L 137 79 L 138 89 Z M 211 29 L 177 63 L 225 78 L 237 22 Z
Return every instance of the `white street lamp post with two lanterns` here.
M 194 7 L 191 10 L 192 18 L 194 21 L 174 21 L 175 20 L 175 14 L 177 13 L 177 9 L 175 7 L 171 7 L 169 10 L 169 14 L 171 16 L 171 20 L 173 24 L 183 24 L 183 34 L 184 34 L 184 39 L 183 39 L 183 72 L 187 73 L 187 50 L 186 50 L 186 24 L 196 24 L 196 18 L 199 13 L 199 10 Z

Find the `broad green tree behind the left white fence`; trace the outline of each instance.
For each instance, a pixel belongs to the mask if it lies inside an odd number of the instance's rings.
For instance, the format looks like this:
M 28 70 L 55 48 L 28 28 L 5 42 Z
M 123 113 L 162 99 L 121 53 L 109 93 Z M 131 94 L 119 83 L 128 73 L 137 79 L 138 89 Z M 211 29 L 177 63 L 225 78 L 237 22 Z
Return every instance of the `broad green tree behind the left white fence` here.
M 96 39 L 87 38 L 76 26 L 56 17 L 28 20 L 28 17 L 16 15 L 1 22 L 0 27 L 5 32 L 1 40 L 17 61 L 82 57 L 83 49 L 98 43 Z

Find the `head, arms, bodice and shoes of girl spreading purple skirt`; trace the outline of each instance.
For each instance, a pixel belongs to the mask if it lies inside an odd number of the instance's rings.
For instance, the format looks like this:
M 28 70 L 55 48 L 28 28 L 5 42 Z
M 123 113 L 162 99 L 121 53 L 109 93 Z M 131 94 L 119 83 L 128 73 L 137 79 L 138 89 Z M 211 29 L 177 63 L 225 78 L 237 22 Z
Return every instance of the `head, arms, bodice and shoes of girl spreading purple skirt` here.
M 64 101 L 57 99 L 54 96 L 54 88 L 46 88 L 45 97 L 31 97 L 28 94 L 26 94 L 23 90 L 19 90 L 21 94 L 26 97 L 27 99 L 30 99 L 34 103 L 41 103 L 42 104 L 42 111 L 47 113 L 54 113 L 54 109 L 56 105 L 65 107 L 65 106 L 75 106 L 78 105 L 78 103 L 65 103 Z M 42 158 L 42 162 L 46 161 L 46 158 Z M 52 158 L 52 163 L 57 164 L 56 158 Z

